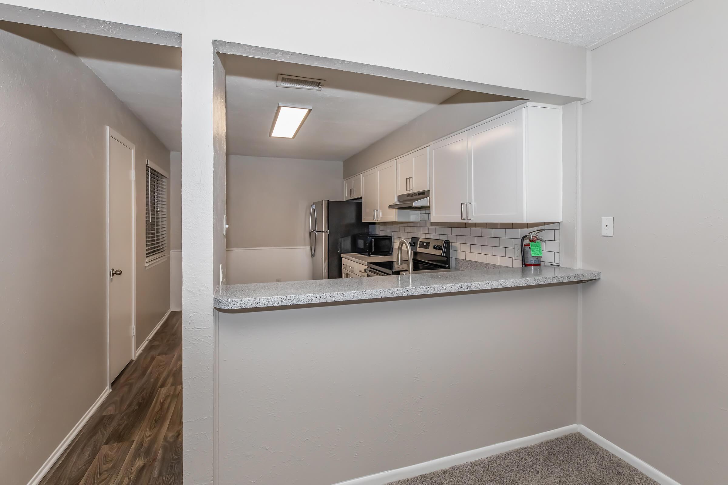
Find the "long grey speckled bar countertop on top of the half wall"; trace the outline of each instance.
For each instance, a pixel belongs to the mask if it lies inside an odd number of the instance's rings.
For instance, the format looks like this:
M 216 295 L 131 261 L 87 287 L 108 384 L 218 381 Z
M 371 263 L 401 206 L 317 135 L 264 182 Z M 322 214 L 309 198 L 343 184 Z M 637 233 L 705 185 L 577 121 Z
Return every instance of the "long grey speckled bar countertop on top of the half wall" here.
M 502 266 L 452 273 L 232 284 L 221 286 L 215 292 L 214 305 L 221 310 L 311 305 L 408 297 L 418 294 L 477 292 L 484 289 L 588 281 L 600 277 L 601 273 L 593 270 L 556 266 L 534 268 Z

